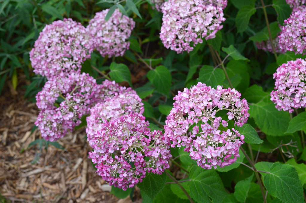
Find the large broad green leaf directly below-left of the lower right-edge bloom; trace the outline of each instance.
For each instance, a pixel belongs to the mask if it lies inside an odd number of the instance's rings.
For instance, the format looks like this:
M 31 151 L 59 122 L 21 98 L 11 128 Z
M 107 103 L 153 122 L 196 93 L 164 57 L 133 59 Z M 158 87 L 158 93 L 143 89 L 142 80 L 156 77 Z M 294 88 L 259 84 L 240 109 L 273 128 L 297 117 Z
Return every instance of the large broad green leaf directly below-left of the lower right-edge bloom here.
M 256 125 L 267 135 L 283 136 L 289 126 L 289 113 L 278 111 L 272 102 L 252 104 L 248 112 Z

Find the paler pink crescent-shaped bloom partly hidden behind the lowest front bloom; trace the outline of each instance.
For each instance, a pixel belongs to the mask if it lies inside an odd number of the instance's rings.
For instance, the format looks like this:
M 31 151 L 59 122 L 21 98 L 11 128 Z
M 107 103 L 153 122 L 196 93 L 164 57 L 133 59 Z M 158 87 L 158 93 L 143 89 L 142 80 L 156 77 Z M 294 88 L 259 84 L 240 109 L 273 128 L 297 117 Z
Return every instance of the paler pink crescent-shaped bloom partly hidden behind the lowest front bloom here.
M 91 147 L 94 144 L 94 137 L 98 136 L 97 132 L 102 129 L 102 124 L 106 121 L 120 118 L 124 114 L 144 112 L 144 104 L 135 90 L 119 86 L 117 88 L 116 94 L 107 95 L 105 100 L 92 107 L 90 116 L 86 118 L 87 141 Z

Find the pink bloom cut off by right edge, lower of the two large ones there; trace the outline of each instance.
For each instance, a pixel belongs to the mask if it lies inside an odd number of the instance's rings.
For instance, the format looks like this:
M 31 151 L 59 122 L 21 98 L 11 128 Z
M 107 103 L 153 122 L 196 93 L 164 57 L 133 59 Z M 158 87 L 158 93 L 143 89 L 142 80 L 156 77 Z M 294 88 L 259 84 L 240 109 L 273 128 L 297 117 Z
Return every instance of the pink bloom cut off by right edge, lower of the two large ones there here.
M 292 113 L 294 109 L 306 107 L 306 61 L 297 59 L 282 64 L 273 74 L 275 91 L 271 100 L 276 108 Z

